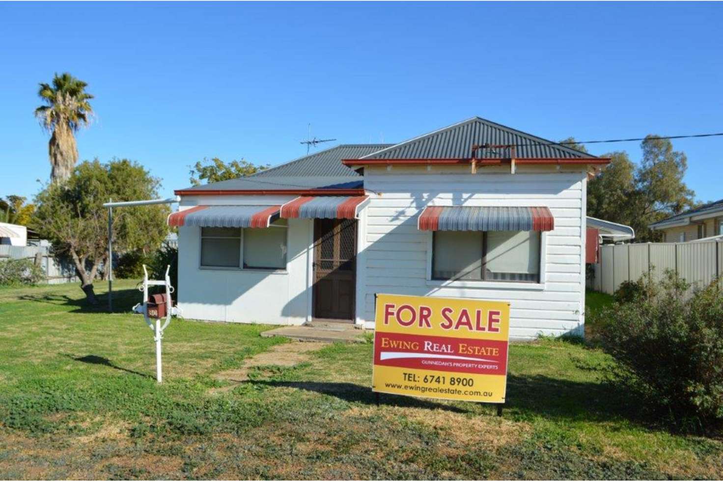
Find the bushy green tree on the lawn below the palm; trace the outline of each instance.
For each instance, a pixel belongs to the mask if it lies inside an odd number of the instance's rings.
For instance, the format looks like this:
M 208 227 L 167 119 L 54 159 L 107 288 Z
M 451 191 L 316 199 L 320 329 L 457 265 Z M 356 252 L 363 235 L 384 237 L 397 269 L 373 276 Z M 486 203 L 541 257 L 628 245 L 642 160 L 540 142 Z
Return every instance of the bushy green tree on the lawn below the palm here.
M 103 202 L 158 197 L 161 181 L 138 163 L 85 161 L 62 184 L 48 184 L 35 199 L 32 226 L 48 238 L 56 252 L 74 262 L 87 301 L 95 304 L 93 280 L 108 261 L 108 209 Z M 114 210 L 113 241 L 119 252 L 158 249 L 168 233 L 166 205 Z

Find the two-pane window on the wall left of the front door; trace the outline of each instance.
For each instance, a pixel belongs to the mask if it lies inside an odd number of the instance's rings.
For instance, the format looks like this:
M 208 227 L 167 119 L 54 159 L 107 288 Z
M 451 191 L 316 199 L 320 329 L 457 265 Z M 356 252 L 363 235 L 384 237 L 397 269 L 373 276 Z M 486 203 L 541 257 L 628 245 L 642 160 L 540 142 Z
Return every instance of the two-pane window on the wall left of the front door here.
M 201 228 L 201 266 L 286 269 L 286 220 L 268 228 Z

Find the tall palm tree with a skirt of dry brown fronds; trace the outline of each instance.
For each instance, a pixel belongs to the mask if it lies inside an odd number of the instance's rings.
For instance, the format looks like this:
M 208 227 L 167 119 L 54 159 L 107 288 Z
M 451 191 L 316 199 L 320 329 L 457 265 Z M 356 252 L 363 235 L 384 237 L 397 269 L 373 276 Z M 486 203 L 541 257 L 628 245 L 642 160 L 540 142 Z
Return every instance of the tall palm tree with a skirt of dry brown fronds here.
M 38 95 L 45 106 L 35 109 L 35 117 L 48 132 L 48 158 L 51 163 L 51 181 L 60 182 L 69 178 L 78 160 L 75 132 L 90 124 L 93 108 L 88 100 L 93 95 L 85 92 L 87 83 L 71 74 L 55 74 L 53 85 L 40 84 Z

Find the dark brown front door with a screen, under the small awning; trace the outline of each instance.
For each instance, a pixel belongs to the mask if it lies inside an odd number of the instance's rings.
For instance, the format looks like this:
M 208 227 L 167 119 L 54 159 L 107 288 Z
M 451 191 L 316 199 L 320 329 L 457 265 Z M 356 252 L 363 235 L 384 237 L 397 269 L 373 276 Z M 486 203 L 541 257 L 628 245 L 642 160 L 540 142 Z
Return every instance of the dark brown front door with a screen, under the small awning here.
M 356 220 L 314 221 L 315 318 L 354 319 Z

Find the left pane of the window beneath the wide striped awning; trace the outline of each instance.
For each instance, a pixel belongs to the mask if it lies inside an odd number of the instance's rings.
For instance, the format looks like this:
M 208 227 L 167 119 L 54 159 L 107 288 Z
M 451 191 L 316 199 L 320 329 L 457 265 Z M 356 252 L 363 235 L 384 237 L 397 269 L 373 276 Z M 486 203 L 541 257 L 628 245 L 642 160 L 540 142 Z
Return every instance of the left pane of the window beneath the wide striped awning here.
M 437 280 L 482 279 L 482 232 L 435 231 L 432 243 Z

